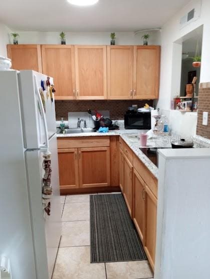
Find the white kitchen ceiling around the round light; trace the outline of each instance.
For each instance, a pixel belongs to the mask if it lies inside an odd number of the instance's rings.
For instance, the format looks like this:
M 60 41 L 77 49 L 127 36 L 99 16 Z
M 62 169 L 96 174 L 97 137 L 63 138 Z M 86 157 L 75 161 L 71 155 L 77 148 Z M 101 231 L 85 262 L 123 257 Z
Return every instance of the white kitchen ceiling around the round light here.
M 13 31 L 136 31 L 162 26 L 189 0 L 0 0 L 0 19 Z

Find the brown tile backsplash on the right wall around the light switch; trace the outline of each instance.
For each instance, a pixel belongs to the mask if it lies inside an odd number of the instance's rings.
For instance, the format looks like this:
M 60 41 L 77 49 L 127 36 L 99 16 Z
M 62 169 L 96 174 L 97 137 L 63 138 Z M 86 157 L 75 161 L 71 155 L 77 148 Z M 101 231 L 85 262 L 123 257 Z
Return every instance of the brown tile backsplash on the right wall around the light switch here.
M 202 113 L 208 112 L 208 124 L 202 124 Z M 210 138 L 210 82 L 200 83 L 198 94 L 197 131 L 201 136 Z

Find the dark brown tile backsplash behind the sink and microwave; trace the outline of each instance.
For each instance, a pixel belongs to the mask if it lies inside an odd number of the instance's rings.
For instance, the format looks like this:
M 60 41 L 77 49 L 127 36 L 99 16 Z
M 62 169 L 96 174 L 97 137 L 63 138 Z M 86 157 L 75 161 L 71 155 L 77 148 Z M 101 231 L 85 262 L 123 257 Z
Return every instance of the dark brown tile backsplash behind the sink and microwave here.
M 56 100 L 56 119 L 64 117 L 68 120 L 68 112 L 80 112 L 91 110 L 109 110 L 112 120 L 124 119 L 125 111 L 128 106 L 137 104 L 138 107 L 145 103 L 153 105 L 153 100 Z

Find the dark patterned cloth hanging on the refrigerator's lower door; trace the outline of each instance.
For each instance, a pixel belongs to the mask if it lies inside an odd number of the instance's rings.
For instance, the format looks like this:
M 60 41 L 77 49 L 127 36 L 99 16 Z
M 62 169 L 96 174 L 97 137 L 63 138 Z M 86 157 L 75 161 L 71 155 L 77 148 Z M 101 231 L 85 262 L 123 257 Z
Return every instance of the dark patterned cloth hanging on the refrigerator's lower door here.
M 51 152 L 47 151 L 43 154 L 43 169 L 45 170 L 45 174 L 43 177 L 43 186 L 42 186 L 42 203 L 44 210 L 44 217 L 50 215 L 51 211 L 51 197 L 53 194 L 53 189 L 51 186 Z

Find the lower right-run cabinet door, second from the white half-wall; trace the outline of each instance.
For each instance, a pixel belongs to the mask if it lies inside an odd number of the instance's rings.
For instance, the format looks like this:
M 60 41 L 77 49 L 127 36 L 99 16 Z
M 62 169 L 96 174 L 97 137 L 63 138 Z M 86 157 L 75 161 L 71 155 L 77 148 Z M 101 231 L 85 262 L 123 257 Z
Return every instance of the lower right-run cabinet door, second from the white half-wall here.
M 145 231 L 145 190 L 144 181 L 133 169 L 133 221 L 143 242 Z

